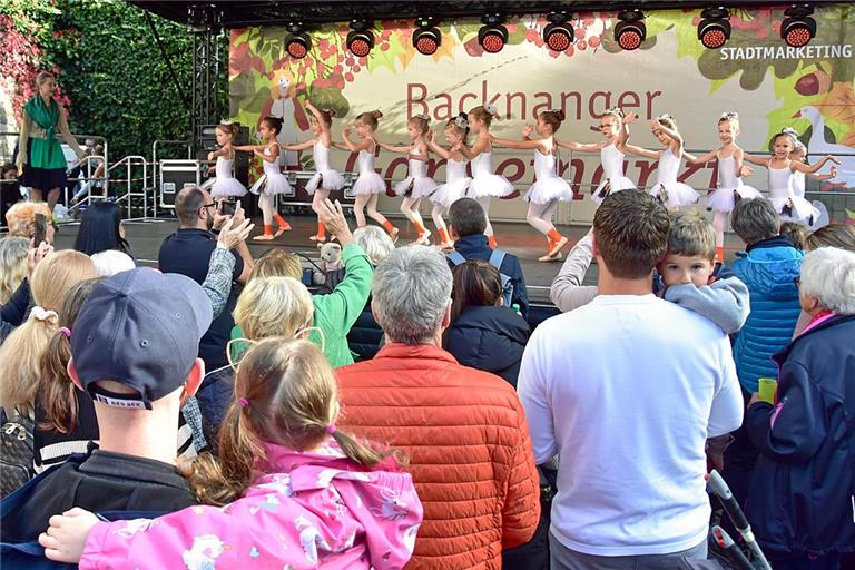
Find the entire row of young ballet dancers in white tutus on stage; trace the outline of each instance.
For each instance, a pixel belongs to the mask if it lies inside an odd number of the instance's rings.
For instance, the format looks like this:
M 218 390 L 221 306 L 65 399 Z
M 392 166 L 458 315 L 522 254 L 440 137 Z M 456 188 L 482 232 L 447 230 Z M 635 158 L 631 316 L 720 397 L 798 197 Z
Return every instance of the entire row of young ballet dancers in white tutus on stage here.
M 210 188 L 217 200 L 238 197 L 247 189 L 232 174 L 236 151 L 252 151 L 263 160 L 264 175 L 249 188 L 259 195 L 259 205 L 264 216 L 264 233 L 254 237 L 256 240 L 269 240 L 291 229 L 288 223 L 275 212 L 274 196 L 289 193 L 291 185 L 279 168 L 279 155 L 283 150 L 303 150 L 312 148 L 315 174 L 306 184 L 306 190 L 312 195 L 312 207 L 325 200 L 330 193 L 344 187 L 344 178 L 330 164 L 330 149 L 336 148 L 358 153 L 358 177 L 353 185 L 355 195 L 354 213 L 360 227 L 366 225 L 366 214 L 382 225 L 389 235 L 396 239 L 399 228 L 392 225 L 377 212 L 377 196 L 385 193 L 386 184 L 374 168 L 374 157 L 377 148 L 390 153 L 404 154 L 407 157 L 409 171 L 406 178 L 393 186 L 394 193 L 401 196 L 401 213 L 410 220 L 416 232 L 416 244 L 430 244 L 432 232 L 428 229 L 420 214 L 423 199 L 433 204 L 431 218 L 435 228 L 439 246 L 453 247 L 443 215 L 454 200 L 461 197 L 476 199 L 484 208 L 488 223 L 485 234 L 490 246 L 495 248 L 497 242 L 493 227 L 490 224 L 491 198 L 508 197 L 515 189 L 503 176 L 493 173 L 492 149 L 504 147 L 529 149 L 534 151 L 535 181 L 525 193 L 528 203 L 525 220 L 547 239 L 547 250 L 541 262 L 561 259 L 561 249 L 568 239 L 562 236 L 552 222 L 556 208 L 560 202 L 571 200 L 573 190 L 558 171 L 559 149 L 567 148 L 573 153 L 599 153 L 602 163 L 602 181 L 591 190 L 591 198 L 600 204 L 610 193 L 635 190 L 636 185 L 627 178 L 623 171 L 623 158 L 627 154 L 643 156 L 658 160 L 657 180 L 649 193 L 657 196 L 667 208 L 677 210 L 692 207 L 699 203 L 700 195 L 689 185 L 678 181 L 680 166 L 685 159 L 688 164 L 705 164 L 718 161 L 718 181 L 706 200 L 706 208 L 714 212 L 716 228 L 717 256 L 723 258 L 724 230 L 729 213 L 736 200 L 753 198 L 761 194 L 743 183 L 741 177 L 750 174 L 746 165 L 750 163 L 764 166 L 768 170 L 769 199 L 772 199 L 783 220 L 812 225 L 818 218 L 817 208 L 805 199 L 805 176 L 818 179 L 836 177 L 835 168 L 831 174 L 816 174 L 827 161 L 837 163 L 833 156 L 825 156 L 813 165 L 805 163 L 806 149 L 798 140 L 798 134 L 793 129 L 784 129 L 773 140 L 773 154 L 769 157 L 755 157 L 743 151 L 736 144 L 739 135 L 739 117 L 736 112 L 725 112 L 718 119 L 718 138 L 721 146 L 701 156 L 686 153 L 684 139 L 677 129 L 674 117 L 662 115 L 650 121 L 650 130 L 661 145 L 659 150 L 648 150 L 630 145 L 629 125 L 638 120 L 636 114 L 625 115 L 621 109 L 608 109 L 600 118 L 602 140 L 598 142 L 571 142 L 556 138 L 564 114 L 560 109 L 544 110 L 538 115 L 537 125 L 525 125 L 522 139 L 498 138 L 490 134 L 490 126 L 499 116 L 491 105 L 482 105 L 469 114 L 461 112 L 444 126 L 444 144 L 439 142 L 430 128 L 430 119 L 416 115 L 406 124 L 410 144 L 389 145 L 377 139 L 375 132 L 383 115 L 370 111 L 358 115 L 353 126 L 342 130 L 342 142 L 332 140 L 332 122 L 335 112 L 317 109 L 311 101 L 306 108 L 312 114 L 309 125 L 313 138 L 304 142 L 284 145 L 276 141 L 276 135 L 282 129 L 282 119 L 265 117 L 261 121 L 258 134 L 263 139 L 261 145 L 233 145 L 237 126 L 224 122 L 217 126 L 217 144 L 219 150 L 208 155 L 209 160 L 216 158 L 216 177 L 205 186 Z M 353 138 L 353 135 L 356 135 Z M 470 135 L 474 141 L 470 144 Z M 436 184 L 428 176 L 428 160 L 433 153 L 445 159 L 446 178 L 444 184 Z M 472 168 L 472 177 L 466 174 L 466 163 Z M 277 229 L 274 233 L 273 225 Z M 315 242 L 326 239 L 324 225 L 317 223 L 317 232 L 309 237 Z

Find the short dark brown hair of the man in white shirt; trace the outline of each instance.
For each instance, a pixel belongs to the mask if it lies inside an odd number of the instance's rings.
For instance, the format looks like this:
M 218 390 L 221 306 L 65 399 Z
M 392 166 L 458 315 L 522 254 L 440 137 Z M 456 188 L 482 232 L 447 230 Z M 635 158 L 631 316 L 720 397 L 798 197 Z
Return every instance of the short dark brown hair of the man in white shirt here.
M 665 206 L 643 191 L 619 191 L 593 215 L 593 238 L 609 273 L 639 279 L 653 271 L 668 246 L 670 218 Z

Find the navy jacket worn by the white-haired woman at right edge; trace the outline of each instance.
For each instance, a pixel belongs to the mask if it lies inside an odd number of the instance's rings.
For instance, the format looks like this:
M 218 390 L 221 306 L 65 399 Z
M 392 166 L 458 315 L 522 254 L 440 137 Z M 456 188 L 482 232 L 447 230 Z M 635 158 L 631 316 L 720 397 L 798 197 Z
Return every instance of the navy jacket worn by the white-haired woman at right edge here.
M 773 550 L 855 551 L 855 315 L 808 326 L 774 358 L 777 405 L 745 415 L 760 451 L 748 520 Z

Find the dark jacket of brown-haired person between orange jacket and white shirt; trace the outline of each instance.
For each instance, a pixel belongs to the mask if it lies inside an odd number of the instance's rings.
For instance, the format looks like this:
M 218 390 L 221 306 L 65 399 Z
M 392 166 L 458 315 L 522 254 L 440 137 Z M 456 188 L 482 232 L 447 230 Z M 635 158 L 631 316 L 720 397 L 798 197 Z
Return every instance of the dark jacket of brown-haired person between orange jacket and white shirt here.
M 517 387 L 529 324 L 509 307 L 469 307 L 445 331 L 443 348 L 464 366 L 492 372 Z

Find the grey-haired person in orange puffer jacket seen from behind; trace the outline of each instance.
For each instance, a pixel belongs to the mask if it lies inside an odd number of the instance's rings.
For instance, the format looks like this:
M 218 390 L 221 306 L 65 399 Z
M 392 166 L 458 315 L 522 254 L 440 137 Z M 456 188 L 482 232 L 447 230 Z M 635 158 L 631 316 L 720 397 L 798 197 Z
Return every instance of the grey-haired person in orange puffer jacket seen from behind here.
M 336 371 L 340 424 L 410 458 L 424 522 L 407 569 L 499 569 L 502 550 L 538 527 L 538 472 L 513 387 L 441 347 L 451 284 L 444 257 L 428 247 L 395 249 L 377 265 L 372 312 L 386 345 Z

